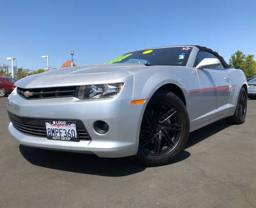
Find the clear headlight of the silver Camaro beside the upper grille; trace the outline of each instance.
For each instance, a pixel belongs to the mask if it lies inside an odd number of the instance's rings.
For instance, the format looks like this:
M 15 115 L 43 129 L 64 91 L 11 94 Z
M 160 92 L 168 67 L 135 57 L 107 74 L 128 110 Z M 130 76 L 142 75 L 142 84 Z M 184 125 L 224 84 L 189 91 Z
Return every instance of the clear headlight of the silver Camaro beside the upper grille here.
M 124 83 L 79 86 L 76 89 L 75 97 L 79 99 L 114 98 L 123 86 Z

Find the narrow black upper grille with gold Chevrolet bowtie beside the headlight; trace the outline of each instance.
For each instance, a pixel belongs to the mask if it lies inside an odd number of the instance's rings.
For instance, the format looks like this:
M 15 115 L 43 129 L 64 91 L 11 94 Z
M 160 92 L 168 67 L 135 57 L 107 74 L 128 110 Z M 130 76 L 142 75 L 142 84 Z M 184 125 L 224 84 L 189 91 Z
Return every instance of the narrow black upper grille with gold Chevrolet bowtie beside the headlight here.
M 74 96 L 76 86 L 71 87 L 46 87 L 46 88 L 20 88 L 17 87 L 17 93 L 25 99 L 45 99 L 45 98 L 63 98 Z M 25 96 L 24 92 L 30 92 Z

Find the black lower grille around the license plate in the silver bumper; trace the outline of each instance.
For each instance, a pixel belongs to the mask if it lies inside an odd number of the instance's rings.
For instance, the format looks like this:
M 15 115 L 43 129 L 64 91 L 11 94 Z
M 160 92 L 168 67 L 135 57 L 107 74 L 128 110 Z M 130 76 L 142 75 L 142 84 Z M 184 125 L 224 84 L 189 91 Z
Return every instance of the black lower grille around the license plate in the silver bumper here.
M 27 135 L 39 136 L 46 138 L 46 129 L 45 129 L 45 120 L 58 120 L 62 121 L 63 119 L 58 118 L 28 118 L 16 116 L 8 112 L 10 121 L 12 122 L 13 127 L 22 133 Z M 80 140 L 91 140 L 88 132 L 86 131 L 84 124 L 80 120 L 63 120 L 63 121 L 75 121 L 77 125 L 77 133 Z

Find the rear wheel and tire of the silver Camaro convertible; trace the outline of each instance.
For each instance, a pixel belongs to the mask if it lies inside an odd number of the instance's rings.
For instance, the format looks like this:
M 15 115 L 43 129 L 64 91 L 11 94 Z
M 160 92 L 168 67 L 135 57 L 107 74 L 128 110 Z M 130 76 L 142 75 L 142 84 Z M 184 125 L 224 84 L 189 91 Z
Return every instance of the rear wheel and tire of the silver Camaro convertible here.
M 247 112 L 247 92 L 244 87 L 241 88 L 239 98 L 236 105 L 236 112 L 233 116 L 226 118 L 230 124 L 243 124 L 246 119 Z

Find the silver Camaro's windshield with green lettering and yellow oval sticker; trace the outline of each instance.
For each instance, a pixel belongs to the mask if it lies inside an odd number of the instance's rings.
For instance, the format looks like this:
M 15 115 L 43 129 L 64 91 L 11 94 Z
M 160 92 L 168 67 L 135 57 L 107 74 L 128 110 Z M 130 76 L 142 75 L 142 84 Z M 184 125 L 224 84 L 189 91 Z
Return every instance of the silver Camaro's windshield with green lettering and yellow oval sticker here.
M 145 64 L 186 66 L 192 47 L 141 50 L 121 55 L 107 64 Z

